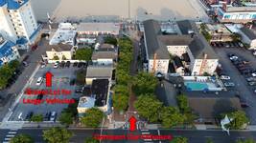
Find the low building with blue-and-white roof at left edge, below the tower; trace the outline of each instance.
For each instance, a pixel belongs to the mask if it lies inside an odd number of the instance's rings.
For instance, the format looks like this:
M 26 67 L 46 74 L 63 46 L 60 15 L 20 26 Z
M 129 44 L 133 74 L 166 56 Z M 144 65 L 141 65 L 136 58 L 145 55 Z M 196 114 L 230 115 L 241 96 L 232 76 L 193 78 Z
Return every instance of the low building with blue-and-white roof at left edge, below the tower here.
M 19 57 L 15 44 L 0 36 L 0 67 Z

